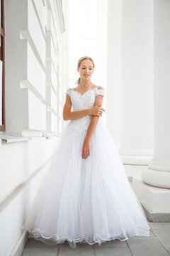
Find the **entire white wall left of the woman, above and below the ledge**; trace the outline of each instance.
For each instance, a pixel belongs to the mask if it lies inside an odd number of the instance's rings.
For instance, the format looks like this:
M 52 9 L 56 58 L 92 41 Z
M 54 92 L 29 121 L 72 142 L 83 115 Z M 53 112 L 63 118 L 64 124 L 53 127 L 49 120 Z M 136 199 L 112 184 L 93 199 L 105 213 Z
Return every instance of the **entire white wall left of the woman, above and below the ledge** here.
M 5 1 L 6 134 L 59 134 L 63 129 L 62 43 L 55 1 Z M 0 140 L 0 255 L 10 255 L 57 136 Z

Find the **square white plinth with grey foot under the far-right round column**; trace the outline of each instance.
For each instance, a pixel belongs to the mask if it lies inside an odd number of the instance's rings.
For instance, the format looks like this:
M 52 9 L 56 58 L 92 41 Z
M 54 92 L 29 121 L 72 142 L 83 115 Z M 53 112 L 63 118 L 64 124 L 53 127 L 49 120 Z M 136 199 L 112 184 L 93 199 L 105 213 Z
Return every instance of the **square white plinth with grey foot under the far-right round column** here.
M 170 222 L 170 189 L 150 186 L 132 177 L 132 189 L 150 222 Z

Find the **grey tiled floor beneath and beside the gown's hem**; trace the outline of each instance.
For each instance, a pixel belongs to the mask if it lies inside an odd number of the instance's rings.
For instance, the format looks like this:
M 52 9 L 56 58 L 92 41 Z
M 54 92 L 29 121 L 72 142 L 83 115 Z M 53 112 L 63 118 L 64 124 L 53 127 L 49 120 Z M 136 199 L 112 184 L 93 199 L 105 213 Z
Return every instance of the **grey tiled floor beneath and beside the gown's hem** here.
M 132 237 L 126 241 L 112 240 L 101 245 L 77 243 L 77 248 L 68 242 L 45 245 L 29 239 L 22 256 L 168 256 L 170 255 L 170 223 L 149 223 L 149 237 Z

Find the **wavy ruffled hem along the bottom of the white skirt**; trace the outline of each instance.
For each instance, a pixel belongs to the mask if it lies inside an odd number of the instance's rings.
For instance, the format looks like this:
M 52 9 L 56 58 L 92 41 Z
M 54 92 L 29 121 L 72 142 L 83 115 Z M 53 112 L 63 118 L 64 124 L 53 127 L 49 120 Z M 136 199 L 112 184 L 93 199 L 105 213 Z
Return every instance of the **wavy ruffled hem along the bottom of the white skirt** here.
M 88 243 L 89 245 L 94 245 L 94 243 L 98 243 L 98 245 L 101 245 L 102 242 L 108 242 L 108 241 L 115 240 L 115 239 L 120 240 L 120 241 L 128 240 L 127 234 L 123 234 L 122 236 L 120 236 L 120 235 L 115 235 L 115 234 L 99 235 L 99 234 L 95 233 L 93 235 L 89 234 L 89 235 L 93 236 L 93 240 L 89 240 L 89 239 L 86 239 L 86 234 L 84 234 L 84 233 L 82 233 L 81 238 L 70 239 L 69 237 L 67 237 L 67 235 L 64 235 L 59 238 L 58 235 L 56 235 L 56 234 L 45 237 L 44 235 L 42 235 L 42 232 L 39 228 L 30 230 L 29 228 L 22 227 L 22 229 L 28 231 L 29 238 L 34 238 L 35 240 L 40 240 L 42 242 L 45 242 L 46 245 L 56 245 L 58 243 L 64 243 L 66 241 L 66 242 L 69 242 L 69 245 L 72 248 L 77 247 L 77 245 L 76 245 L 77 242 Z M 150 228 L 147 228 L 147 230 L 146 229 L 144 230 L 144 229 L 140 228 L 139 233 L 133 233 L 133 234 L 131 233 L 131 234 L 129 234 L 129 236 L 130 237 L 132 237 L 132 236 L 147 236 L 147 237 L 149 237 L 149 229 Z

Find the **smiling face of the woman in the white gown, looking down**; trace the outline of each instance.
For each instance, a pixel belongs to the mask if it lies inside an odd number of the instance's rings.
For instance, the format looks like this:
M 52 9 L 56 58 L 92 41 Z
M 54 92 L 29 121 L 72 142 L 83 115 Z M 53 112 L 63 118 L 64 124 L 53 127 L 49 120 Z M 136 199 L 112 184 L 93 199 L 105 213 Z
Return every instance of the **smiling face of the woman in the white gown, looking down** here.
M 77 71 L 83 80 L 90 80 L 91 75 L 94 73 L 93 63 L 89 59 L 82 60 L 80 67 L 77 68 Z

